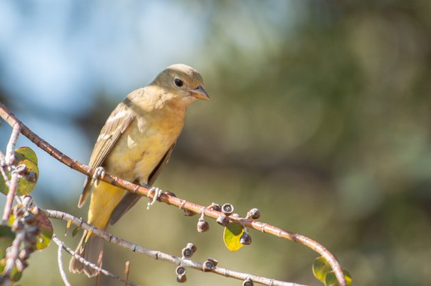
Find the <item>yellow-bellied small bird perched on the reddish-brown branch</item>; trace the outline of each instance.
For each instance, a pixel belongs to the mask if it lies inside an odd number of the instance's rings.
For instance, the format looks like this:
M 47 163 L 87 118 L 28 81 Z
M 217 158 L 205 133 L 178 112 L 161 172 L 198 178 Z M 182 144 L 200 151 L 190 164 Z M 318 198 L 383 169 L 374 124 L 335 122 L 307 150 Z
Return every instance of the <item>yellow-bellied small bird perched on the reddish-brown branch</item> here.
M 186 108 L 202 99 L 209 101 L 203 78 L 191 66 L 173 64 L 148 86 L 129 93 L 107 118 L 90 156 L 89 166 L 96 175 L 87 177 L 78 207 L 82 207 L 93 189 L 88 223 L 98 229 L 115 224 L 141 196 L 98 180 L 103 172 L 140 185 L 153 185 L 164 168 L 183 129 Z M 103 239 L 84 231 L 76 252 L 97 264 L 103 251 Z M 73 257 L 73 273 L 88 277 L 98 274 L 94 268 Z

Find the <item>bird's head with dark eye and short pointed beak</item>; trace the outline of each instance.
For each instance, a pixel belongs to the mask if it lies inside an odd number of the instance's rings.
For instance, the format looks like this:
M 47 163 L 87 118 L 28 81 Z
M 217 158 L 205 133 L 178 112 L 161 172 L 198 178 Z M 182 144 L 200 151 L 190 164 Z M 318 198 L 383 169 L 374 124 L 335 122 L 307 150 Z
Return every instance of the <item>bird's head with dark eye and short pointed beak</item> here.
M 185 64 L 172 64 L 159 73 L 153 86 L 163 88 L 166 100 L 178 101 L 188 105 L 196 99 L 209 101 L 209 96 L 203 88 L 203 79 L 197 70 Z

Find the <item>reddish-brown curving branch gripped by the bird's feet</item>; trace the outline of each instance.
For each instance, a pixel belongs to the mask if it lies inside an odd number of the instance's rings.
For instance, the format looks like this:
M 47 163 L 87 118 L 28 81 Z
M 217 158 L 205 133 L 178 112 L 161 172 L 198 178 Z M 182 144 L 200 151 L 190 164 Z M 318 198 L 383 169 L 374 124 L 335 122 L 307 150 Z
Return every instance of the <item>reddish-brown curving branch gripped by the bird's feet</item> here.
M 18 122 L 21 125 L 21 133 L 23 133 L 23 135 L 25 135 L 27 138 L 29 138 L 29 140 L 34 142 L 36 146 L 38 146 L 45 152 L 49 153 L 49 155 L 61 161 L 66 166 L 73 168 L 74 170 L 77 170 L 90 177 L 92 177 L 92 175 L 94 174 L 94 168 L 90 168 L 89 166 L 86 166 L 85 164 L 82 164 L 79 161 L 72 159 L 64 155 L 60 151 L 58 151 L 51 144 L 44 141 L 42 138 L 36 135 L 36 133 L 34 133 L 28 127 L 26 127 L 23 124 L 23 122 L 18 120 L 18 118 L 16 118 L 16 116 L 14 116 L 14 114 L 12 114 L 12 112 L 10 112 L 10 110 L 7 107 L 5 107 L 5 105 L 3 105 L 2 103 L 0 103 L 0 116 L 11 126 L 14 126 L 15 123 Z M 106 183 L 109 183 L 116 187 L 122 187 L 123 189 L 129 192 L 133 192 L 141 196 L 147 196 L 152 198 L 152 196 L 148 194 L 148 191 L 149 191 L 148 187 L 135 185 L 129 181 L 122 180 L 118 177 L 111 176 L 109 174 L 104 174 L 100 179 L 101 181 L 105 181 Z M 181 198 L 170 196 L 169 194 L 166 194 L 166 193 L 161 194 L 159 196 L 159 201 L 164 202 L 168 205 L 174 205 L 174 206 L 180 207 L 181 209 L 186 209 L 187 211 L 192 211 L 193 213 L 201 213 L 204 210 L 205 216 L 209 218 L 217 219 L 222 214 L 220 213 L 220 211 L 207 209 L 201 205 L 196 205 L 194 203 L 187 202 Z M 283 229 L 279 229 L 275 226 L 272 226 L 270 224 L 265 224 L 263 222 L 244 220 L 244 218 L 235 218 L 233 216 L 229 216 L 229 220 L 233 222 L 241 222 L 241 224 L 243 224 L 244 226 L 247 226 L 250 229 L 255 229 L 257 231 L 261 231 L 262 233 L 270 233 L 278 237 L 289 239 L 289 240 L 292 240 L 293 242 L 298 242 L 299 244 L 302 244 L 304 246 L 307 246 L 315 250 L 315 252 L 319 253 L 319 255 L 322 255 L 326 259 L 326 261 L 328 261 L 332 270 L 334 270 L 335 275 L 337 276 L 337 280 L 339 281 L 339 284 L 341 286 L 347 285 L 343 274 L 343 270 L 341 268 L 341 265 L 339 265 L 339 262 L 337 261 L 337 259 L 335 259 L 334 255 L 332 255 L 332 253 L 330 253 L 326 248 L 324 248 L 324 246 L 322 246 L 318 242 L 315 242 L 315 240 L 310 239 L 309 237 L 306 237 L 304 235 L 299 235 L 298 233 L 284 231 Z

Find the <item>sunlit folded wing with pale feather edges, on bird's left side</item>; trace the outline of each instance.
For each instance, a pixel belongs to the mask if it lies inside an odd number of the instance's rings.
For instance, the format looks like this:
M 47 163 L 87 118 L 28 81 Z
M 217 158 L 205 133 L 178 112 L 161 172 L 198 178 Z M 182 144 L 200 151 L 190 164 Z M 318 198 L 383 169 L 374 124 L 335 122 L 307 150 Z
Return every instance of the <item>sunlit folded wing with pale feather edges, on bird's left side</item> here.
M 103 164 L 109 151 L 112 150 L 120 135 L 127 129 L 131 120 L 133 120 L 131 109 L 125 103 L 120 103 L 106 120 L 99 138 L 97 138 L 88 164 L 91 168 L 97 168 Z M 92 178 L 87 177 L 82 194 L 79 197 L 78 207 L 82 207 L 83 203 L 85 203 L 88 194 L 90 194 L 91 186 Z

